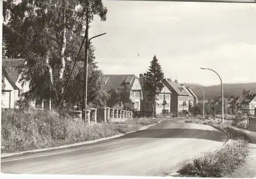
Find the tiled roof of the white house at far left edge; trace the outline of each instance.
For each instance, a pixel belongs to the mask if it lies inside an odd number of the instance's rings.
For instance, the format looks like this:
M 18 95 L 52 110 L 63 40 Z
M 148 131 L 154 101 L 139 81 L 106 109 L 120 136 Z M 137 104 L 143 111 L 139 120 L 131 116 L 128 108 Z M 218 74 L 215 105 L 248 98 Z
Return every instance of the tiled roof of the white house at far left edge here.
M 26 62 L 25 59 L 2 58 L 2 66 L 9 74 L 11 80 L 16 83 L 20 74 L 20 67 Z

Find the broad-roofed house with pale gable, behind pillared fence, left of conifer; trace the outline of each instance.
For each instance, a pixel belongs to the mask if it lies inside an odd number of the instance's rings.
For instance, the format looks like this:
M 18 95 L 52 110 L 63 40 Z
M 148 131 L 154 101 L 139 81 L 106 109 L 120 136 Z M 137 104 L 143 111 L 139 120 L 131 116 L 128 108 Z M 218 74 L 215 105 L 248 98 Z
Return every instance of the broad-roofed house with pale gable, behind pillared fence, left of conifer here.
M 136 111 L 140 111 L 140 101 L 142 97 L 142 87 L 139 79 L 134 74 L 104 74 L 103 90 L 115 90 L 117 94 L 124 95 L 134 104 Z M 119 98 L 119 106 L 128 102 Z M 118 101 L 117 101 L 118 103 Z M 113 107 L 113 106 L 109 106 Z

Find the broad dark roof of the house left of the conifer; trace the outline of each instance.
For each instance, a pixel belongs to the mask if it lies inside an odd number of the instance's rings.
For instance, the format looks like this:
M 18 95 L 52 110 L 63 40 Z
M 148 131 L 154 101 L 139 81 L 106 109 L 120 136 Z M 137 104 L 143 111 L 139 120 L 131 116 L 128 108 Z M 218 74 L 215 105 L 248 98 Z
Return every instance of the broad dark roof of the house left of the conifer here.
M 133 83 L 137 78 L 134 74 L 104 74 L 103 76 L 105 81 L 103 90 L 111 90 L 112 88 L 132 89 Z M 128 82 L 126 80 L 128 80 Z M 125 81 L 127 83 L 125 83 Z

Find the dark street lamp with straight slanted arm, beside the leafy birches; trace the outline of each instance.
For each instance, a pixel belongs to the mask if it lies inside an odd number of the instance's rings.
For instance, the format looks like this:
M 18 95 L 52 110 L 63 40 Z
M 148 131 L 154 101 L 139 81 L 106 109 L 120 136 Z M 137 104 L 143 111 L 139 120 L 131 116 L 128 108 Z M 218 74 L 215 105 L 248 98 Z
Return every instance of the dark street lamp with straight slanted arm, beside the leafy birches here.
M 88 56 L 89 56 L 89 53 L 88 53 L 88 49 L 89 49 L 89 45 L 90 45 L 90 42 L 92 39 L 96 38 L 96 37 L 99 37 L 99 36 L 102 36 L 102 35 L 105 35 L 106 33 L 103 33 L 103 34 L 99 34 L 99 35 L 96 35 L 92 38 L 89 39 L 89 42 L 88 44 L 86 44 L 86 61 L 84 62 L 84 86 L 83 86 L 83 97 L 82 97 L 82 115 L 84 117 L 84 123 L 86 123 L 86 110 L 87 110 L 87 79 L 88 79 Z

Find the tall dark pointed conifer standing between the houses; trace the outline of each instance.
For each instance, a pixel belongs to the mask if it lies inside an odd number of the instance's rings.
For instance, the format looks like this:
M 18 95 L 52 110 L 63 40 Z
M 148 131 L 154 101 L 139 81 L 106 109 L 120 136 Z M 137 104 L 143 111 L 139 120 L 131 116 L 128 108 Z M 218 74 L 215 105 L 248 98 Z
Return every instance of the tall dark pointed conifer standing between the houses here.
M 153 57 L 150 68 L 146 72 L 144 78 L 145 84 L 143 85 L 143 88 L 148 92 L 148 95 L 153 101 L 152 112 L 154 117 L 156 108 L 156 95 L 159 94 L 164 87 L 164 73 L 156 56 Z

